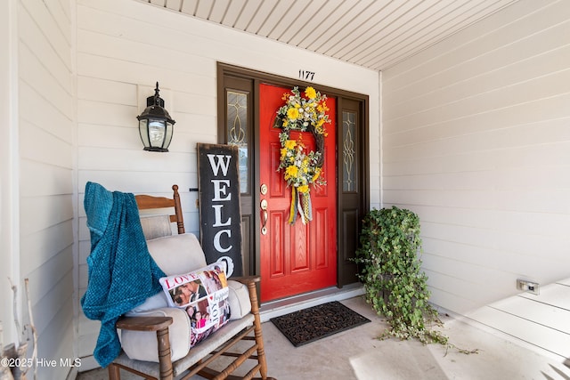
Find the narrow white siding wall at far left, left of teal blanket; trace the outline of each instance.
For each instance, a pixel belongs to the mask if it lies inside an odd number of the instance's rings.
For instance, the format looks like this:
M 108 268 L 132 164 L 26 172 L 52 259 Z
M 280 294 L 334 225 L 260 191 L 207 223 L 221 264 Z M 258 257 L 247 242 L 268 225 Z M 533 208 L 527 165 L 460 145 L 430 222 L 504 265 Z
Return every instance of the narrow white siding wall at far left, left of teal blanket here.
M 38 333 L 42 379 L 65 378 L 74 352 L 75 83 L 69 1 L 18 4 L 20 284 Z M 21 308 L 23 324 L 28 309 Z M 31 345 L 31 341 L 30 341 Z M 31 352 L 31 347 L 30 347 Z M 28 374 L 30 376 L 30 374 Z

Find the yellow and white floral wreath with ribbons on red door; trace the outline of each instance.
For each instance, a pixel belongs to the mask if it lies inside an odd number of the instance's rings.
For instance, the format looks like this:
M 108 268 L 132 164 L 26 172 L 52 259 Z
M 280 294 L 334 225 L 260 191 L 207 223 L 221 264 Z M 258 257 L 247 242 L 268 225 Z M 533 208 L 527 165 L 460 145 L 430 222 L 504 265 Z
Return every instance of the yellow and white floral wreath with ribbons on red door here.
M 327 136 L 324 125 L 330 123 L 326 114 L 329 110 L 327 96 L 313 87 L 306 87 L 304 94 L 305 97 L 301 96 L 298 87 L 294 87 L 283 94 L 282 99 L 286 103 L 277 110 L 282 123 L 282 132 L 279 133 L 281 158 L 277 170 L 284 171 L 284 179 L 291 187 L 290 224 L 297 221 L 297 213 L 301 215 L 303 224 L 313 220 L 309 185 L 326 184 L 321 173 L 324 138 Z M 291 131 L 311 132 L 316 150 L 307 152 L 301 135 L 297 140 L 291 140 Z

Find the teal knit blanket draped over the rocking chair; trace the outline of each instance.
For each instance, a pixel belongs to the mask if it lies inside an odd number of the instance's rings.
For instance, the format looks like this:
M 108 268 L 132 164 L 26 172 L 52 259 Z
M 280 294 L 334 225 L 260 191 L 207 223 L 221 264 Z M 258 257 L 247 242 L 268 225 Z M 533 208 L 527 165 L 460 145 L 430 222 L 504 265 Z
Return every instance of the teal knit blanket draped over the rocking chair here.
M 101 320 L 94 357 L 106 368 L 121 351 L 118 317 L 162 291 L 166 275 L 149 254 L 133 194 L 87 182 L 84 206 L 91 254 L 81 307 L 87 318 Z

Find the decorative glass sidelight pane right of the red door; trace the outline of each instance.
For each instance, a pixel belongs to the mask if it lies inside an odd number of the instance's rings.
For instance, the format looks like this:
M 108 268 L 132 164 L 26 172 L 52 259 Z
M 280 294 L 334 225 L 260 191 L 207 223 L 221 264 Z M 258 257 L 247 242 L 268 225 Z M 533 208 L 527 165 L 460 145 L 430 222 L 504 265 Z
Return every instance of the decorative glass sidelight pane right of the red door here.
M 352 111 L 342 112 L 342 190 L 346 192 L 357 191 L 356 168 L 358 167 L 358 155 L 356 155 L 355 134 L 356 113 Z

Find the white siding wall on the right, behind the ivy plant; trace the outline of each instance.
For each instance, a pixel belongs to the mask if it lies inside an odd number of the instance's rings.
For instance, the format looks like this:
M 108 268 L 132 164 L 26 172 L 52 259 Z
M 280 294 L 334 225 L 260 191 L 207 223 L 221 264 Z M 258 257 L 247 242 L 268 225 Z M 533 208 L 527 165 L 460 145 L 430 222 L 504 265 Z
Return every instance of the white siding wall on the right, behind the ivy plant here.
M 517 2 L 382 87 L 383 205 L 419 214 L 433 303 L 570 357 L 541 318 L 570 319 L 570 4 Z

